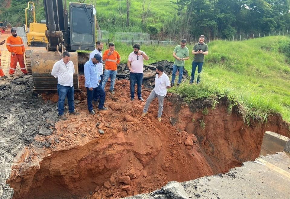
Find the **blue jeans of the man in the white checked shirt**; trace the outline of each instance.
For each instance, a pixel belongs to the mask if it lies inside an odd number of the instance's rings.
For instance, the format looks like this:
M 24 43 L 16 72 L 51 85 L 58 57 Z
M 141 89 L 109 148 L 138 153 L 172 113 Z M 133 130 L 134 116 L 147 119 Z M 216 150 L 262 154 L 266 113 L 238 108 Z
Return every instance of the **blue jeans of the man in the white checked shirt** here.
M 75 111 L 75 104 L 74 104 L 74 96 L 75 96 L 75 89 L 70 86 L 63 86 L 57 84 L 57 93 L 58 93 L 58 114 L 63 115 L 64 111 L 64 100 L 67 96 L 67 101 L 69 103 L 69 112 L 72 113 Z

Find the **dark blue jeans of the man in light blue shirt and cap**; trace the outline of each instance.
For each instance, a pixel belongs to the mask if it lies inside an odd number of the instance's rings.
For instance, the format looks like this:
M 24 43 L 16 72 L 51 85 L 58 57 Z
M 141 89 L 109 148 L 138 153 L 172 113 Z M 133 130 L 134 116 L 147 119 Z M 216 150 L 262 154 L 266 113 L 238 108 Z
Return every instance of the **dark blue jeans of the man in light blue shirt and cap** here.
M 99 102 L 99 107 L 98 108 L 103 108 L 105 104 L 105 97 L 106 93 L 104 89 L 101 86 L 98 86 L 96 88 L 93 88 L 92 91 L 89 90 L 89 87 L 87 88 L 87 100 L 88 100 L 88 109 L 89 111 L 93 110 L 93 98 L 97 98 L 98 96 L 100 97 L 100 102 Z

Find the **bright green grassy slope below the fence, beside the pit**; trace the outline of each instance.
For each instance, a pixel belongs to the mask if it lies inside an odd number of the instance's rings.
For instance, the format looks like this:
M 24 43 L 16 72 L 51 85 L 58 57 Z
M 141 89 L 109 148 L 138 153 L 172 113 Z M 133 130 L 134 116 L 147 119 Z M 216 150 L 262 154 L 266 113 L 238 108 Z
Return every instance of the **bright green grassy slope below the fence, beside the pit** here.
M 205 58 L 200 84 L 182 83 L 171 89 L 193 99 L 211 99 L 227 96 L 231 101 L 229 112 L 237 105 L 244 120 L 250 118 L 266 121 L 272 113 L 281 113 L 290 121 L 290 39 L 276 36 L 241 42 L 214 41 L 208 44 L 209 55 Z M 146 64 L 163 59 L 173 61 L 174 47 L 141 46 L 149 56 Z M 191 52 L 192 46 L 188 45 Z M 132 48 L 116 43 L 121 62 L 127 62 Z M 191 72 L 191 62 L 185 68 Z M 195 75 L 196 78 L 197 74 Z

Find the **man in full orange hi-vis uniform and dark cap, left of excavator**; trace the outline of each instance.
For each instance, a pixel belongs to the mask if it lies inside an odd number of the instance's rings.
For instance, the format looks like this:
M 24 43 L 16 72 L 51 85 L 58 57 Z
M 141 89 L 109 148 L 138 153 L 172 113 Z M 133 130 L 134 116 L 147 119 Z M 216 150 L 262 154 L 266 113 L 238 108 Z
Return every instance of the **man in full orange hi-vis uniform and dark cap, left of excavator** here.
M 20 69 L 24 73 L 24 75 L 27 75 L 27 70 L 25 69 L 24 65 L 25 48 L 23 41 L 21 37 L 17 36 L 17 30 L 15 30 L 14 28 L 11 29 L 11 34 L 12 36 L 8 37 L 6 41 L 6 47 L 11 53 L 9 76 L 13 76 L 17 66 L 17 62 L 19 62 Z

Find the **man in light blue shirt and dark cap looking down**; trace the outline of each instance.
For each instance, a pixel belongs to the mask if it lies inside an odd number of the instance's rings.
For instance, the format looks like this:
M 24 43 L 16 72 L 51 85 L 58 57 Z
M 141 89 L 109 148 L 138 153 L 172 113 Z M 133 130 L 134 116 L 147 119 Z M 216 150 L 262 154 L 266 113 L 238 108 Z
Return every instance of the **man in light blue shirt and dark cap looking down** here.
M 85 87 L 87 88 L 87 100 L 88 100 L 88 109 L 90 114 L 95 114 L 93 111 L 93 98 L 100 96 L 100 102 L 98 106 L 98 111 L 106 111 L 108 108 L 104 107 L 106 93 L 101 87 L 99 82 L 101 77 L 98 74 L 97 63 L 103 63 L 102 57 L 99 54 L 95 54 L 92 59 L 87 61 L 84 65 L 85 72 Z

